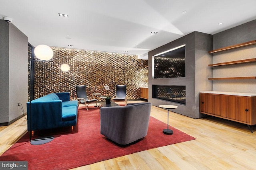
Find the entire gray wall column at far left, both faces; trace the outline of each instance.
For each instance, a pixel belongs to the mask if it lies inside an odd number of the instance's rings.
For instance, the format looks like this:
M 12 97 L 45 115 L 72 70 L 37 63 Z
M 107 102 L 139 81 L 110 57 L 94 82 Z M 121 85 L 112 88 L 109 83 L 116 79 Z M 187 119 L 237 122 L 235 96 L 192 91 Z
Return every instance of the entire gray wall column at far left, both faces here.
M 0 123 L 8 125 L 26 111 L 28 101 L 28 37 L 0 20 Z

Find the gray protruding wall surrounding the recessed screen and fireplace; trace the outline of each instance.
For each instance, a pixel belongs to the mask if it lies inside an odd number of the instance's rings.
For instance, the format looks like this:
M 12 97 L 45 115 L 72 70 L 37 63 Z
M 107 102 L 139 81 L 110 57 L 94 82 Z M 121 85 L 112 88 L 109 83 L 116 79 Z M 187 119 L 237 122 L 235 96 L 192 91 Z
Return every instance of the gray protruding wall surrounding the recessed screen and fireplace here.
M 152 56 L 157 53 L 178 47 L 186 44 L 186 77 L 182 78 L 152 78 Z M 208 51 L 212 49 L 212 35 L 193 32 L 180 39 L 172 41 L 166 45 L 163 45 L 148 53 L 148 90 L 149 90 L 149 102 L 154 106 L 160 104 L 172 104 L 178 106 L 177 109 L 172 111 L 186 115 L 192 118 L 199 118 L 199 91 L 201 87 L 206 90 L 212 90 L 211 82 L 200 83 L 201 79 L 206 82 L 208 76 L 211 76 L 211 69 L 208 69 L 208 64 L 211 64 L 212 57 L 208 54 Z M 202 63 L 201 63 L 202 62 Z M 199 64 L 198 68 L 196 63 Z M 202 75 L 202 71 L 204 74 Z M 199 79 L 199 80 L 197 80 Z M 177 104 L 174 102 L 159 100 L 152 98 L 152 85 L 180 85 L 186 86 L 186 105 Z

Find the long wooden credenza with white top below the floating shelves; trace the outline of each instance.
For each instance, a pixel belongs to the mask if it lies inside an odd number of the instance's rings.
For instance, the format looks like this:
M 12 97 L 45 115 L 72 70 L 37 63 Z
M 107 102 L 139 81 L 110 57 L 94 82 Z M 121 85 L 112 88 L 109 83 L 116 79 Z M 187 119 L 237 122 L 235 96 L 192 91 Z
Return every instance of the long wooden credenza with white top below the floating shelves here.
M 236 92 L 200 92 L 200 113 L 246 125 L 256 124 L 256 94 Z

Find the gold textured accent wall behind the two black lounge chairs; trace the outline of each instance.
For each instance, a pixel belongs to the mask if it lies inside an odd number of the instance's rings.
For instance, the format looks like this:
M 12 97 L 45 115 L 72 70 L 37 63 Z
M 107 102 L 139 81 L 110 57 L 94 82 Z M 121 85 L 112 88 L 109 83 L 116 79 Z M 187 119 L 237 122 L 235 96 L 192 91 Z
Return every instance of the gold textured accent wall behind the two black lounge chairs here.
M 35 62 L 34 94 L 39 98 L 53 92 L 69 92 L 76 100 L 76 85 L 87 85 L 86 93 L 114 96 L 116 84 L 127 85 L 128 100 L 140 98 L 140 86 L 148 86 L 148 61 L 136 55 L 51 47 L 53 62 Z M 60 71 L 61 64 L 70 66 Z M 104 86 L 110 90 L 106 91 Z M 94 96 L 95 97 L 95 96 Z

